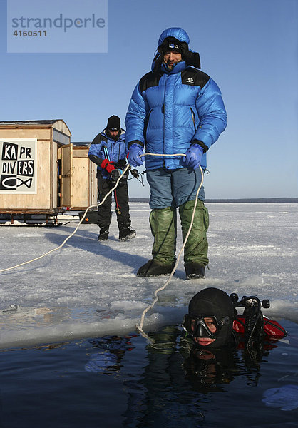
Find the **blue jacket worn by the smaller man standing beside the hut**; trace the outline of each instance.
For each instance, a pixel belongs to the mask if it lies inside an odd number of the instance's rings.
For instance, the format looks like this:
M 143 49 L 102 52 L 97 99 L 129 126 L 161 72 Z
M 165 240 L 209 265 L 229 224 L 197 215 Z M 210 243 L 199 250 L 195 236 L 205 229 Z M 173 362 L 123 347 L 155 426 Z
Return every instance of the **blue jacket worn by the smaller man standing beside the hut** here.
M 97 170 L 101 173 L 103 178 L 111 178 L 110 174 L 105 169 L 101 168 L 103 159 L 108 159 L 115 163 L 123 161 L 123 165 L 125 165 L 127 153 L 125 131 L 121 129 L 120 136 L 115 141 L 107 136 L 106 130 L 104 129 L 93 139 L 88 151 L 88 157 L 92 162 L 98 165 Z

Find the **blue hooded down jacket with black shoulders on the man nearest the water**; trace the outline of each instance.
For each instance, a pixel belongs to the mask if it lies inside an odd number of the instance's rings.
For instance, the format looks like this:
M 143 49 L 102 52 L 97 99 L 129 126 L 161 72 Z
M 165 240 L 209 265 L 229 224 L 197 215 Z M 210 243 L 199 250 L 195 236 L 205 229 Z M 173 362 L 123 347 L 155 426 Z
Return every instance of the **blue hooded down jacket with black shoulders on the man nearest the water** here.
M 168 29 L 158 44 L 172 36 L 188 44 L 183 29 Z M 158 56 L 155 57 L 155 61 Z M 153 61 L 153 67 L 155 65 Z M 206 152 L 227 125 L 220 88 L 207 74 L 176 63 L 172 71 L 162 63 L 157 73 L 147 73 L 133 91 L 125 118 L 126 144 L 139 143 L 150 153 L 185 153 L 198 143 Z M 206 168 L 206 154 L 201 162 Z M 180 157 L 145 156 L 149 169 L 183 168 Z

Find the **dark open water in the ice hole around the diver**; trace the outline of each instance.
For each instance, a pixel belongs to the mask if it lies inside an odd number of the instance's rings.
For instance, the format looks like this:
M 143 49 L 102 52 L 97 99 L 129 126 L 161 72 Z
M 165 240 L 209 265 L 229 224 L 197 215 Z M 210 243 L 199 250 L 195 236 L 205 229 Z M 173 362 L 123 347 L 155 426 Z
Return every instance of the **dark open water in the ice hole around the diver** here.
M 0 427 L 298 427 L 297 389 L 279 407 L 262 402 L 298 387 L 297 324 L 280 323 L 289 335 L 260 363 L 237 350 L 205 365 L 177 327 L 152 333 L 155 347 L 133 334 L 1 350 Z

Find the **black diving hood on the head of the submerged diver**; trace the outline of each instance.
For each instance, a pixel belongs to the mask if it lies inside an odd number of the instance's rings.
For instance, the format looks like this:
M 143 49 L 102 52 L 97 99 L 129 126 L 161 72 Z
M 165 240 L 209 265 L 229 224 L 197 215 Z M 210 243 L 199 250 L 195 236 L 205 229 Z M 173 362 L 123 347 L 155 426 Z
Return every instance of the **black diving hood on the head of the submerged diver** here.
M 188 313 L 194 317 L 214 316 L 219 322 L 225 317 L 229 317 L 229 321 L 222 325 L 215 342 L 207 345 L 206 348 L 229 345 L 232 335 L 234 305 L 225 291 L 210 287 L 198 292 L 190 300 Z

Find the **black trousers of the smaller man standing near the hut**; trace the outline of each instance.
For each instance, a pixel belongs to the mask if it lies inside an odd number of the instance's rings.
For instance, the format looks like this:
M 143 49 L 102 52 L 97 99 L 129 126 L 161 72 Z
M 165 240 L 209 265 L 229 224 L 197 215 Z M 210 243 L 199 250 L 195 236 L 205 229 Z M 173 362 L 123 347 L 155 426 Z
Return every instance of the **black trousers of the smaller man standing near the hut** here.
M 103 200 L 106 194 L 115 186 L 115 182 L 103 178 L 100 173 L 97 175 L 98 183 L 98 199 Z M 130 214 L 128 205 L 128 182 L 120 180 L 117 188 L 113 191 L 115 199 L 115 213 L 119 230 L 130 227 Z M 112 217 L 112 193 L 108 195 L 105 202 L 98 207 L 98 226 L 100 228 L 108 228 Z

